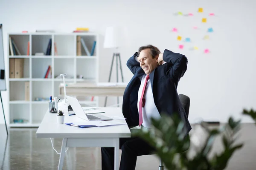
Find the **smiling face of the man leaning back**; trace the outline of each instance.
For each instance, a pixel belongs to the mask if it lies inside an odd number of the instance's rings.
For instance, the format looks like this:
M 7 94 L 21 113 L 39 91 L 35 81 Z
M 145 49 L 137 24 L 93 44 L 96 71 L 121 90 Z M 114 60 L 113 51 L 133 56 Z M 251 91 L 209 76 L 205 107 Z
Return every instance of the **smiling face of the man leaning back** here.
M 150 49 L 140 51 L 140 55 L 137 60 L 140 62 L 140 67 L 144 70 L 145 74 L 149 75 L 155 68 L 157 68 L 157 57 L 152 58 Z

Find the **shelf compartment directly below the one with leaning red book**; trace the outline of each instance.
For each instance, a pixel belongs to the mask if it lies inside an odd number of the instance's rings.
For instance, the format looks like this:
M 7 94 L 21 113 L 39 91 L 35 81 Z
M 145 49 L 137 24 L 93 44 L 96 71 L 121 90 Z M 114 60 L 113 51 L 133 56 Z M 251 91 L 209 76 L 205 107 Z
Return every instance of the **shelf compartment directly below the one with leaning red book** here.
M 49 101 L 52 96 L 52 82 L 32 82 L 32 101 Z

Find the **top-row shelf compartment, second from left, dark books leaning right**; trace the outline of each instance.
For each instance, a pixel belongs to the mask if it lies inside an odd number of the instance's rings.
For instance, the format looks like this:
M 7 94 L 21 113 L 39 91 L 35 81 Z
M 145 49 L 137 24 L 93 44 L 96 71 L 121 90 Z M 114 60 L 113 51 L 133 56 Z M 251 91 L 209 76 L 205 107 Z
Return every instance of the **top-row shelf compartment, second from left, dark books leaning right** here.
M 49 45 L 49 40 L 52 39 L 50 34 L 32 35 L 32 55 L 35 56 L 36 52 L 43 52 L 47 55 L 47 48 Z M 52 45 L 50 50 L 50 55 L 52 54 Z M 48 56 L 48 55 L 47 55 Z

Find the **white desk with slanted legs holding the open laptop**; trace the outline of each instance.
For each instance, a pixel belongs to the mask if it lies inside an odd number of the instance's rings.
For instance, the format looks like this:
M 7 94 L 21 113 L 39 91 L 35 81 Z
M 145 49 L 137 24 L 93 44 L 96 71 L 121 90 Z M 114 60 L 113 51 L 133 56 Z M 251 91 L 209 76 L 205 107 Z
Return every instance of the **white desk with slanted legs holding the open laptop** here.
M 100 108 L 100 110 L 105 111 L 102 114 L 106 116 L 123 117 L 120 108 Z M 126 123 L 125 119 L 119 121 Z M 115 147 L 115 170 L 118 170 L 119 138 L 128 137 L 131 137 L 128 125 L 88 128 L 60 125 L 57 124 L 56 113 L 48 111 L 36 132 L 36 138 L 63 138 L 58 170 L 62 170 L 66 147 Z

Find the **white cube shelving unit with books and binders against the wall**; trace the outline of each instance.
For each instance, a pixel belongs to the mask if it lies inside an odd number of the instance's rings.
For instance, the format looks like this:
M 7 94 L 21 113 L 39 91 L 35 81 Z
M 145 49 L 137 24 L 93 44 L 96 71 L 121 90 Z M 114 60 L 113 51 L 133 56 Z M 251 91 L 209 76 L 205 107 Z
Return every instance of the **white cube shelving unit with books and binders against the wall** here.
M 96 46 L 93 56 L 87 56 L 81 46 L 81 56 L 77 56 L 77 36 L 81 36 L 91 51 L 93 42 Z M 9 119 L 10 127 L 38 127 L 48 108 L 49 97 L 58 96 L 58 86 L 62 78 L 58 75 L 67 73 L 66 82 L 99 82 L 99 36 L 93 33 L 9 33 L 8 58 L 23 58 L 24 68 L 22 78 L 9 78 L 9 59 L 7 65 L 7 87 L 9 87 Z M 11 56 L 9 37 L 12 37 L 21 55 Z M 49 40 L 52 39 L 51 54 L 38 56 L 35 52 L 47 52 Z M 28 51 L 29 42 L 29 55 Z M 58 54 L 55 54 L 55 44 Z M 44 78 L 48 66 L 51 65 L 52 76 Z M 82 75 L 83 78 L 77 77 Z M 29 100 L 25 100 L 25 82 L 29 82 Z M 37 101 L 36 98 L 46 98 Z M 58 96 L 63 99 L 63 96 Z M 83 98 L 82 106 L 98 106 L 98 97 L 90 101 L 91 96 Z M 79 101 L 81 98 L 79 98 Z M 14 119 L 27 120 L 14 123 Z

